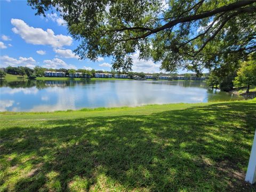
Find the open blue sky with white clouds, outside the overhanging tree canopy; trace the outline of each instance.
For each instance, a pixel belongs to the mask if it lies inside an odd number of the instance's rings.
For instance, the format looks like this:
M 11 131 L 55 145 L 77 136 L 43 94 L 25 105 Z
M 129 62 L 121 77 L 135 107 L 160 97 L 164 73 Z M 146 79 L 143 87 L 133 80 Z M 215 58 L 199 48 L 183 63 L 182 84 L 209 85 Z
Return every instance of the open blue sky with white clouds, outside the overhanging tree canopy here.
M 65 21 L 58 13 L 46 17 L 35 15 L 27 1 L 1 2 L 1 67 L 43 66 L 47 68 L 75 68 L 110 70 L 111 58 L 79 60 L 73 50 L 79 42 L 68 33 Z M 133 71 L 159 72 L 159 63 L 138 59 L 133 55 Z M 186 71 L 179 71 L 186 73 Z

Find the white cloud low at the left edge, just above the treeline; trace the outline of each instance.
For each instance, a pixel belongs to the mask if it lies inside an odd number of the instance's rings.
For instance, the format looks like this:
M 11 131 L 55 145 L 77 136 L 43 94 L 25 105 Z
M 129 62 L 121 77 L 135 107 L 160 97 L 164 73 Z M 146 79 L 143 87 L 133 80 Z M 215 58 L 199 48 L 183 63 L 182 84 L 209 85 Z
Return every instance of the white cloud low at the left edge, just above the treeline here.
M 29 58 L 19 57 L 19 59 L 15 59 L 15 58 L 9 57 L 8 55 L 2 56 L 1 61 L 2 61 L 1 63 L 3 63 L 3 67 L 25 66 L 29 68 L 34 68 L 36 64 L 36 61 L 31 57 Z

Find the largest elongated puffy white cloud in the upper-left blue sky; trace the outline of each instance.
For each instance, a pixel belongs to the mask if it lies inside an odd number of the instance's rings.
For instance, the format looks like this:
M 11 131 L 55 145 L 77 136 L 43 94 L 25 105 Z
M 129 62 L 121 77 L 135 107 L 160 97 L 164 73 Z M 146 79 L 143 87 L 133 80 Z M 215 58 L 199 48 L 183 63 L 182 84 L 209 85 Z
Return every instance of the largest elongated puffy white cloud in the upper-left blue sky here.
M 51 45 L 52 47 L 62 47 L 65 45 L 71 45 L 73 39 L 66 35 L 54 35 L 52 29 L 46 31 L 41 28 L 34 28 L 27 25 L 21 19 L 11 19 L 11 23 L 14 26 L 12 31 L 15 34 L 19 34 L 26 43 L 34 45 Z

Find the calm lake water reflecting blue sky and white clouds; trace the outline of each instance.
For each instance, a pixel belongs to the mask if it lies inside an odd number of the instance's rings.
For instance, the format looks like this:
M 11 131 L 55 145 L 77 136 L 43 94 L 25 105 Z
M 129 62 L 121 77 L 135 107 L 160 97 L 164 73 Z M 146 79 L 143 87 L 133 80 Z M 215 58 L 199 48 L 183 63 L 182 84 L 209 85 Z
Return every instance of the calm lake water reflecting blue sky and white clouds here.
M 242 99 L 202 81 L 0 81 L 1 111 L 196 103 Z

